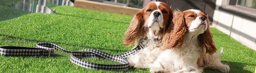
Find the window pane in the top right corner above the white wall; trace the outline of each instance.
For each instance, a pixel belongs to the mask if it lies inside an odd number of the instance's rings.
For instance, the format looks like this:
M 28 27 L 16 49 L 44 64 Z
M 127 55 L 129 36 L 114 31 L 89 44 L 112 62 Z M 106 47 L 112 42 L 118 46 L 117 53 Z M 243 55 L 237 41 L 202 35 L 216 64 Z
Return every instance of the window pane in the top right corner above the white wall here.
M 256 0 L 238 0 L 237 5 L 256 8 Z

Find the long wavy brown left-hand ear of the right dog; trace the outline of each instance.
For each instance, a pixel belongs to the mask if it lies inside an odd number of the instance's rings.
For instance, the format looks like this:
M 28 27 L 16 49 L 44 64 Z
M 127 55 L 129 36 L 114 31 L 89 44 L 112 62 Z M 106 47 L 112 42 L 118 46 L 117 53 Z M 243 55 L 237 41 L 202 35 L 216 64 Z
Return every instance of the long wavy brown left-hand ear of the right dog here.
M 180 47 L 183 44 L 183 40 L 188 32 L 184 19 L 184 14 L 181 11 L 177 10 L 174 12 L 172 19 L 174 25 L 170 25 L 164 33 L 162 50 Z

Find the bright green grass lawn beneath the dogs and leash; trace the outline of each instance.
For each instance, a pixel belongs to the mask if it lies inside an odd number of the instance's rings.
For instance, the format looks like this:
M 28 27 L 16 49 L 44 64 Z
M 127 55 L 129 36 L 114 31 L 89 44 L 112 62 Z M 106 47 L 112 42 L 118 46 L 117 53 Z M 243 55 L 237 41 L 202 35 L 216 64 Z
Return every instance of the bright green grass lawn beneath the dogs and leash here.
M 37 42 L 52 42 L 70 51 L 98 49 L 121 54 L 132 47 L 122 45 L 122 36 L 132 16 L 80 9 L 70 6 L 54 7 L 57 14 L 32 13 L 0 22 L 0 46 L 36 47 Z M 230 65 L 230 73 L 253 73 L 256 52 L 230 36 L 211 28 L 214 41 L 224 48 L 222 62 Z M 149 69 L 130 67 L 127 71 L 104 71 L 80 67 L 70 60 L 70 53 L 56 51 L 54 57 L 0 56 L 1 73 L 148 73 Z M 100 64 L 119 64 L 102 58 L 81 58 Z M 220 73 L 207 70 L 205 73 Z

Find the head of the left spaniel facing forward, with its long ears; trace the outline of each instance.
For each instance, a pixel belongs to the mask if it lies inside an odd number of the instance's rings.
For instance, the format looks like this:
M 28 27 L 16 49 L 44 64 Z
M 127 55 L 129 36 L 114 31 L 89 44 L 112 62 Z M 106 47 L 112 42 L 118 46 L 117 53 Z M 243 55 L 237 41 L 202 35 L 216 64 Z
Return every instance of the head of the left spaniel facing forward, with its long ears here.
M 172 21 L 172 9 L 164 2 L 149 2 L 133 17 L 124 34 L 124 46 L 131 46 L 140 38 L 162 36 Z

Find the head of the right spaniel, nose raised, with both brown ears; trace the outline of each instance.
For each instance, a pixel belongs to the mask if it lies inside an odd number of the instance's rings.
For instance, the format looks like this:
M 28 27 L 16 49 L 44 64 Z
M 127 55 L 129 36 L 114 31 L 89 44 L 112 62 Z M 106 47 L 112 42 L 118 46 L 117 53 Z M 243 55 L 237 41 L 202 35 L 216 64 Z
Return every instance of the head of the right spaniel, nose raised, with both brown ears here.
M 187 11 L 175 11 L 173 14 L 173 27 L 171 31 L 166 31 L 163 39 L 163 50 L 180 47 L 185 36 L 197 36 L 201 48 L 206 49 L 206 53 L 213 54 L 217 48 L 213 41 L 213 35 L 209 29 L 208 16 L 200 10 L 189 9 Z

